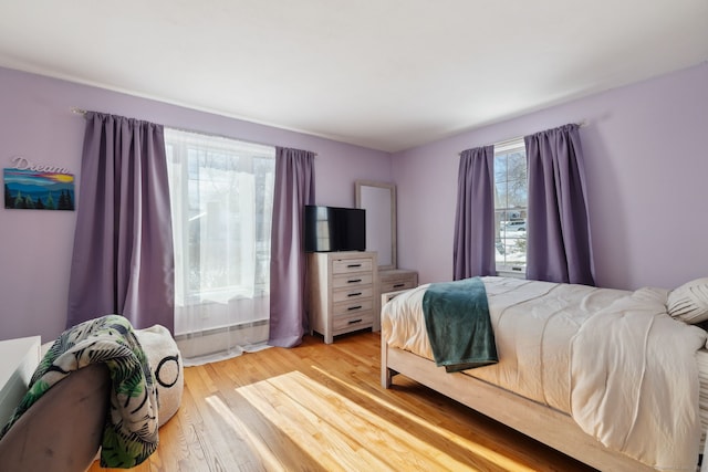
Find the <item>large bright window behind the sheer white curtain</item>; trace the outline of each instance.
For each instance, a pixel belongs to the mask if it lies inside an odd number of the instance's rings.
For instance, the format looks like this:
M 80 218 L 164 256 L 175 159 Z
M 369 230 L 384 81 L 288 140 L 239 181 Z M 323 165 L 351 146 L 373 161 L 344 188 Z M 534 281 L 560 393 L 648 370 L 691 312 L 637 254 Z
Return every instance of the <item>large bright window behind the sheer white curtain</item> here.
M 165 145 L 176 307 L 269 297 L 275 148 L 167 128 Z

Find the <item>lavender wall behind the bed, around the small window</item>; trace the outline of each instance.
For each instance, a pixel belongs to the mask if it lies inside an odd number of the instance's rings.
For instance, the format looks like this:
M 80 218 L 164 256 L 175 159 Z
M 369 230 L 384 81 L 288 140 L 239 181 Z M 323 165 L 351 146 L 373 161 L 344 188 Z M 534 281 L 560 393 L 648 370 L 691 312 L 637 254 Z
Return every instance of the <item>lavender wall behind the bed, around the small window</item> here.
M 451 280 L 461 150 L 579 122 L 597 284 L 708 276 L 705 63 L 394 155 L 399 265 L 421 283 Z

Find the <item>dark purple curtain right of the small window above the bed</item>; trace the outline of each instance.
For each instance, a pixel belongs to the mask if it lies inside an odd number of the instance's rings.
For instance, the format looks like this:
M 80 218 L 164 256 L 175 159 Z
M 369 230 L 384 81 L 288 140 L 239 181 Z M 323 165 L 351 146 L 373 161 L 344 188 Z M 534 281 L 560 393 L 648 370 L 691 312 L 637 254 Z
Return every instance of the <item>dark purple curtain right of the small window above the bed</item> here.
M 529 162 L 527 277 L 594 285 L 579 126 L 525 136 Z

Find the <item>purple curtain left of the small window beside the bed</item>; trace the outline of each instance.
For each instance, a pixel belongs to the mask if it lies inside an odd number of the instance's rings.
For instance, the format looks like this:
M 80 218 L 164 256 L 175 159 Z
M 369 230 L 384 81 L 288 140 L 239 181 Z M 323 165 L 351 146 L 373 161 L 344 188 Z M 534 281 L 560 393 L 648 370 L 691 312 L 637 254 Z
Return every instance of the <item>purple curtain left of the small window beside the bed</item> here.
M 457 183 L 454 280 L 496 274 L 494 147 L 464 150 Z

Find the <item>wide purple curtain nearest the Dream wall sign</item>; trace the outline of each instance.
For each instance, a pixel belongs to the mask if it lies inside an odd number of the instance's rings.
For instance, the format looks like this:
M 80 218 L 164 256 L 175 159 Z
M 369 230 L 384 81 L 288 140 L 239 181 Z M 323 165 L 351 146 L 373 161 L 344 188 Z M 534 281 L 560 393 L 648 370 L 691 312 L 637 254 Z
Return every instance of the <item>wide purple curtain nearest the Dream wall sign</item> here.
M 69 287 L 71 327 L 119 314 L 174 331 L 174 250 L 163 127 L 88 112 Z

